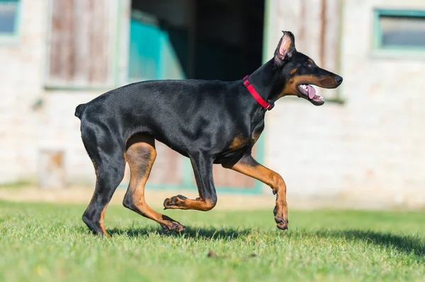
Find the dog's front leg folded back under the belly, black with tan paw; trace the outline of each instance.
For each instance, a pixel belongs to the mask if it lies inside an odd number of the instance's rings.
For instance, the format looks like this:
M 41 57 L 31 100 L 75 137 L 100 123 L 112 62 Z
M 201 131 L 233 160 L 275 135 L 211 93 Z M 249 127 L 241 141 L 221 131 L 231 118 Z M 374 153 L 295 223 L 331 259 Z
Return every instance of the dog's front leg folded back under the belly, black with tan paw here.
M 209 211 L 217 204 L 214 180 L 212 179 L 213 159 L 205 153 L 189 153 L 196 184 L 198 185 L 199 198 L 188 199 L 186 196 L 177 195 L 164 201 L 164 208 L 196 209 Z

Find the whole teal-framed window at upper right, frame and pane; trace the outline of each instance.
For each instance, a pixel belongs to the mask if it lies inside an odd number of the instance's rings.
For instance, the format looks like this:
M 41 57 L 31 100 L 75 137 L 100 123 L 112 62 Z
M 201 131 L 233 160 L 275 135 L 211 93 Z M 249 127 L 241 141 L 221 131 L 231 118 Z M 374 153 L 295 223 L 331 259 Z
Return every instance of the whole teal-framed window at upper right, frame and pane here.
M 425 52 L 425 11 L 375 10 L 374 47 Z

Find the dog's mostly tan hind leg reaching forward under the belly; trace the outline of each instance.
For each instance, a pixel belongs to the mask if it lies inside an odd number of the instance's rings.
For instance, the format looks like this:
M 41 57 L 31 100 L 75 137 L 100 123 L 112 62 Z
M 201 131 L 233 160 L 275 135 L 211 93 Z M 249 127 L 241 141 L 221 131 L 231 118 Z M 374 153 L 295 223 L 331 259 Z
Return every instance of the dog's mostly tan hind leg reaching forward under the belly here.
M 123 205 L 146 218 L 157 221 L 166 232 L 182 232 L 185 228 L 183 225 L 168 216 L 157 213 L 145 201 L 145 184 L 157 157 L 154 138 L 147 134 L 132 136 L 127 142 L 125 157 L 130 166 L 131 176 Z

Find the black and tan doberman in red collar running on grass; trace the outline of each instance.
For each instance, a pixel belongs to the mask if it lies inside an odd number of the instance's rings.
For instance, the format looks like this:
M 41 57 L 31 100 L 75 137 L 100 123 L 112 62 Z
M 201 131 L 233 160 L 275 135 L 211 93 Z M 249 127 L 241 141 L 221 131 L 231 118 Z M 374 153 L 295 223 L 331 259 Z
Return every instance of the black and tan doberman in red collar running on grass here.
M 322 105 L 323 98 L 311 85 L 336 88 L 341 83 L 341 76 L 297 52 L 293 33 L 284 31 L 273 59 L 243 80 L 143 81 L 78 105 L 75 115 L 81 119 L 81 138 L 96 170 L 96 187 L 84 223 L 93 233 L 109 236 L 103 218 L 128 163 L 131 176 L 123 205 L 157 221 L 166 232 L 185 229 L 145 201 L 157 140 L 191 160 L 199 192 L 196 199 L 181 195 L 165 199 L 164 208 L 214 208 L 212 164 L 218 163 L 270 186 L 276 194 L 277 227 L 288 229 L 285 182 L 277 172 L 257 163 L 251 149 L 264 129 L 266 111 L 276 100 L 295 95 Z

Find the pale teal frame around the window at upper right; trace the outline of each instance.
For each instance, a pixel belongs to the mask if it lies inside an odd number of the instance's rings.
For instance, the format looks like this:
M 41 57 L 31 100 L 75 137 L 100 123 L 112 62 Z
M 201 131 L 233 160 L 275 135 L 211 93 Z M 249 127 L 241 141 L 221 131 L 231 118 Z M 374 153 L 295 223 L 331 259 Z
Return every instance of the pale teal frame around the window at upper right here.
M 382 30 L 380 28 L 380 17 L 381 16 L 399 16 L 399 17 L 415 17 L 424 18 L 425 21 L 425 10 L 400 10 L 390 8 L 375 8 L 373 11 L 373 50 L 375 52 L 385 54 L 424 54 L 424 47 L 413 47 L 405 45 L 382 45 Z

